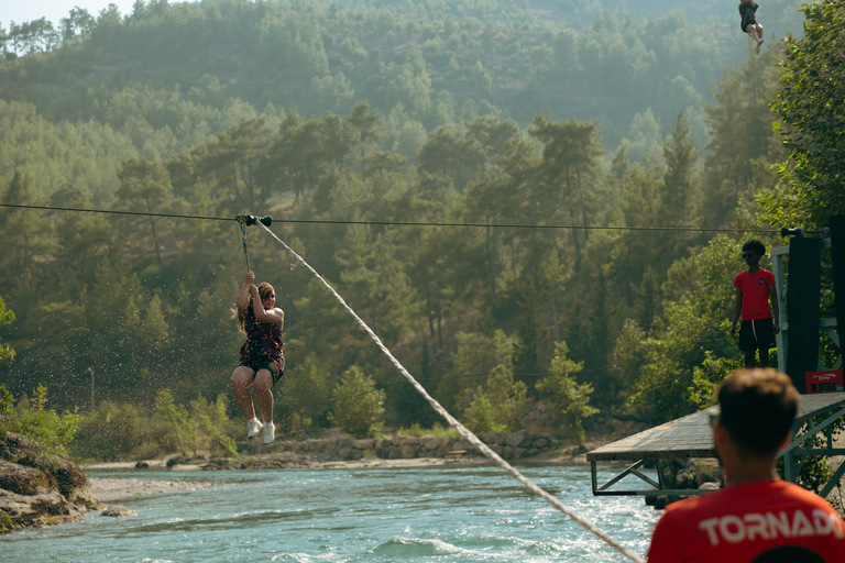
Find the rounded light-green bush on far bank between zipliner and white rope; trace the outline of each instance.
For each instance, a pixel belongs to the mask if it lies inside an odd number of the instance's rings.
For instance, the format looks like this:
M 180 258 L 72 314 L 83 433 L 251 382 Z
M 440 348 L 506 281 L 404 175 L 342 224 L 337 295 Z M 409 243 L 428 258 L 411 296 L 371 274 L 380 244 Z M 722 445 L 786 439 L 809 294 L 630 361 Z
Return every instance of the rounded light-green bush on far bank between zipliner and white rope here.
M 329 420 L 353 438 L 375 438 L 383 424 L 385 395 L 384 389 L 375 388 L 371 376 L 353 365 L 334 387 L 334 410 Z

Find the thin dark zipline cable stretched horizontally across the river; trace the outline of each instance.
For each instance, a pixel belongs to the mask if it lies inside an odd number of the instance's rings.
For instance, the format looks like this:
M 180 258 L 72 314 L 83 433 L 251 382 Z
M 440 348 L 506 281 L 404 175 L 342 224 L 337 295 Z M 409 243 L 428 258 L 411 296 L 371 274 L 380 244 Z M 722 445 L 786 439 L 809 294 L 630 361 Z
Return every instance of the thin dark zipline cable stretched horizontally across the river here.
M 149 213 L 142 211 L 118 211 L 109 209 L 83 209 L 72 207 L 50 207 L 50 206 L 24 206 L 18 203 L 0 203 L 0 207 L 14 209 L 37 209 L 42 211 L 76 211 L 86 213 L 106 213 L 121 216 L 139 217 L 165 217 L 172 219 L 198 219 L 202 221 L 232 221 L 232 218 L 206 217 L 206 216 L 186 216 L 178 213 Z M 371 227 L 471 227 L 491 228 L 491 229 L 556 229 L 573 231 L 669 231 L 669 232 L 689 232 L 689 233 L 780 233 L 778 229 L 703 229 L 696 227 L 602 227 L 591 224 L 528 224 L 528 223 L 437 223 L 432 221 L 345 221 L 333 219 L 283 219 L 284 223 L 296 224 L 354 224 Z

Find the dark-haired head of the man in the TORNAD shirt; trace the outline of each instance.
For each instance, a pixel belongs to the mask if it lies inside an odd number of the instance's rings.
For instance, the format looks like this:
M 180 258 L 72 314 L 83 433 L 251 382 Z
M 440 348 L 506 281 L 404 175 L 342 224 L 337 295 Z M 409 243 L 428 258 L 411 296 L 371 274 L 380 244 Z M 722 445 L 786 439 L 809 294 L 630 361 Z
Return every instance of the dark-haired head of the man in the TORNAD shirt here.
M 750 456 L 778 453 L 798 412 L 798 389 L 770 367 L 737 369 L 718 388 L 720 423 Z

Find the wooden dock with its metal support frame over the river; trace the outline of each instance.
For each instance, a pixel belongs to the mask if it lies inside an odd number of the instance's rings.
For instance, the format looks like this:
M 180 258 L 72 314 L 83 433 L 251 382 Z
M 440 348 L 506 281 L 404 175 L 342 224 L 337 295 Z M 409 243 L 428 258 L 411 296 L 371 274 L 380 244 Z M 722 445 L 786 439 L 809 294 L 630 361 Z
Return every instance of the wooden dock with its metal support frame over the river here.
M 831 413 L 832 411 L 835 411 L 835 413 L 828 416 L 827 420 L 797 435 L 808 421 L 812 421 L 812 419 Z M 713 430 L 710 426 L 710 416 L 717 412 L 718 407 L 710 407 L 588 452 L 586 460 L 590 462 L 593 474 L 593 494 L 680 494 L 676 490 L 670 492 L 665 487 L 660 462 L 690 457 L 715 457 L 716 452 L 713 449 Z M 793 426 L 794 440 L 781 452 L 781 455 L 786 455 L 788 481 L 793 481 L 797 477 L 801 466 L 801 462 L 798 460 L 800 457 L 845 454 L 845 451 L 833 449 L 830 433 L 831 424 L 843 416 L 845 416 L 845 393 L 820 393 L 801 396 L 798 416 Z M 821 450 L 813 449 L 808 440 L 825 431 L 827 431 L 827 448 Z M 804 442 L 806 442 L 804 444 L 805 448 L 798 448 L 799 444 Z M 597 462 L 635 463 L 604 485 L 599 486 L 596 476 Z M 644 474 L 643 467 L 650 465 L 647 462 L 655 462 L 657 466 L 657 481 Z M 845 464 L 843 464 L 843 471 L 845 471 Z M 628 475 L 638 477 L 651 485 L 652 488 L 648 490 L 612 490 L 610 488 Z M 842 474 L 839 474 L 839 477 L 842 477 Z M 838 482 L 838 478 L 836 482 Z M 690 492 L 687 492 L 687 494 L 690 494 Z

